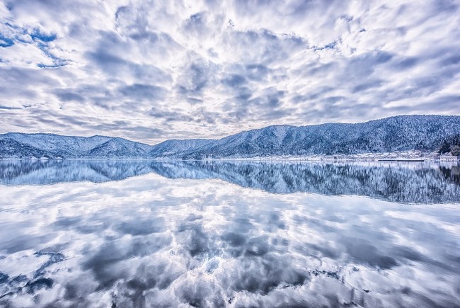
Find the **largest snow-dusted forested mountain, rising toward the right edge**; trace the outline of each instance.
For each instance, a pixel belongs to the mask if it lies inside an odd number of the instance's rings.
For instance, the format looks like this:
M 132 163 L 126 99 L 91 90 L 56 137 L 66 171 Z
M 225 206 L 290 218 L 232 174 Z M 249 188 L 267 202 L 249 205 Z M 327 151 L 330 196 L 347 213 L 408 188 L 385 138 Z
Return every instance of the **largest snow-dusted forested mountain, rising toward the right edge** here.
M 357 124 L 275 125 L 184 152 L 185 159 L 311 154 L 434 151 L 460 132 L 460 116 L 406 115 Z

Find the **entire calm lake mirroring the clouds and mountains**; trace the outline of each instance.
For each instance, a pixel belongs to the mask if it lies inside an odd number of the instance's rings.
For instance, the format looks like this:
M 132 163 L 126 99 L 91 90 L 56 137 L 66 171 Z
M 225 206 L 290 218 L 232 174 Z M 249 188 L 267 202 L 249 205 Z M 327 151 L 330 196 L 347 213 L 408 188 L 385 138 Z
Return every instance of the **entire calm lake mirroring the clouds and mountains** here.
M 2 307 L 460 307 L 460 166 L 0 161 Z

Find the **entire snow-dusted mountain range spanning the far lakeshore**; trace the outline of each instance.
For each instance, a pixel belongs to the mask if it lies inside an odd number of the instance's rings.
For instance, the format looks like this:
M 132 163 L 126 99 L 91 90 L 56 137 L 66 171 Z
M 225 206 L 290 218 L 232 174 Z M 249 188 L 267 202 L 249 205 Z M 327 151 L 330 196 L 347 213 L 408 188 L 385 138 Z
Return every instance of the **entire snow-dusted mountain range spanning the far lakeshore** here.
M 118 137 L 8 132 L 0 158 L 250 158 L 437 151 L 460 134 L 458 115 L 400 115 L 362 123 L 272 125 L 222 139 L 170 139 L 149 145 Z

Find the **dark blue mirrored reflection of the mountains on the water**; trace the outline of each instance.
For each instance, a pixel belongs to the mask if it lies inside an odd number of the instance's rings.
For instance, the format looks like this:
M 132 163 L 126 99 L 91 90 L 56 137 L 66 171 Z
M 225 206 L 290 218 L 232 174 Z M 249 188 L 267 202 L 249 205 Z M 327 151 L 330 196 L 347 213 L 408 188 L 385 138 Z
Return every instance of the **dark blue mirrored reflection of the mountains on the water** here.
M 399 203 L 460 200 L 460 166 L 428 163 L 262 161 L 0 161 L 0 183 L 44 185 L 119 181 L 146 173 L 219 178 L 270 193 L 365 195 Z

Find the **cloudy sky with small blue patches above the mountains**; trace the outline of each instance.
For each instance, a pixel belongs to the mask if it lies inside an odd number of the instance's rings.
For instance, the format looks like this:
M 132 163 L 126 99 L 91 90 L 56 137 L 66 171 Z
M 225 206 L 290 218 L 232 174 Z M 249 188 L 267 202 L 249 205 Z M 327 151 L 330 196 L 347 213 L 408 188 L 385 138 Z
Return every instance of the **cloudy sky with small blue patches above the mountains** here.
M 0 0 L 0 133 L 460 114 L 460 0 Z

